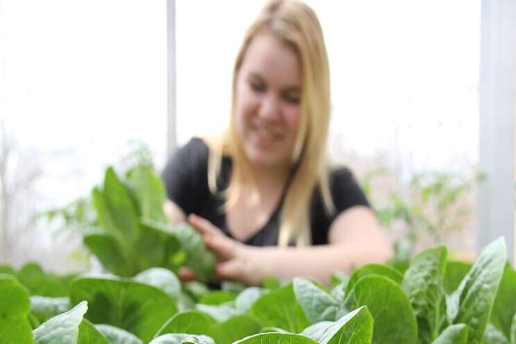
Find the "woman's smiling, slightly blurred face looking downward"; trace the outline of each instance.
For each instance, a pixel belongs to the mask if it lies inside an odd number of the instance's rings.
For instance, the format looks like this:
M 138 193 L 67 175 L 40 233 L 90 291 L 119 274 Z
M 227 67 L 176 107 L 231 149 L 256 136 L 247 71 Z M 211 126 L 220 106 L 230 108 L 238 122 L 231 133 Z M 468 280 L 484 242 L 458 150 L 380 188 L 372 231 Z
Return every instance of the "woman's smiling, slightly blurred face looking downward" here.
M 253 166 L 289 166 L 301 117 L 301 62 L 272 33 L 250 42 L 236 79 L 236 132 Z

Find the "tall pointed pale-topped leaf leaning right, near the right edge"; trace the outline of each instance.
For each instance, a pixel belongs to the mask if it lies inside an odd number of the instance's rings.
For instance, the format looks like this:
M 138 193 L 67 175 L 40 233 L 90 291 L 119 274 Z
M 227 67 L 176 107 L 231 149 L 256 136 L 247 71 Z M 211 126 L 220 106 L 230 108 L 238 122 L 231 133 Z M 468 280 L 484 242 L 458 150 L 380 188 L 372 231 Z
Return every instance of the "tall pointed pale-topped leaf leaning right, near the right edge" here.
M 504 239 L 490 243 L 481 251 L 479 258 L 458 286 L 456 297 L 451 299 L 458 302 L 458 313 L 456 316 L 449 313 L 449 316 L 455 324 L 468 325 L 468 343 L 481 343 L 506 259 Z

